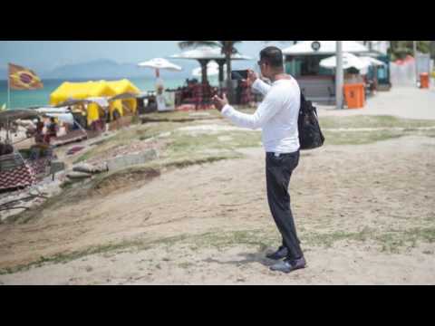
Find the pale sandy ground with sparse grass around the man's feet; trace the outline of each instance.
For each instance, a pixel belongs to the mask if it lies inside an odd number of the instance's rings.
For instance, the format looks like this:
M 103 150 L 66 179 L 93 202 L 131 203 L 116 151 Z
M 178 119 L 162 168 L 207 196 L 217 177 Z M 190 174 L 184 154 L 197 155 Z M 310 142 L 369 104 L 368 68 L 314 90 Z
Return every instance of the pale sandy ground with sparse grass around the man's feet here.
M 435 120 L 434 103 L 434 89 L 393 88 L 364 110 L 319 112 L 333 120 Z M 433 284 L 435 137 L 425 128 L 303 153 L 291 195 L 305 270 L 268 270 L 265 254 L 279 236 L 266 203 L 264 150 L 256 145 L 237 148 L 240 158 L 127 177 L 121 188 L 102 187 L 26 223 L 0 225 L 0 283 Z M 176 130 L 216 133 L 223 148 L 231 132 L 241 132 L 225 120 Z

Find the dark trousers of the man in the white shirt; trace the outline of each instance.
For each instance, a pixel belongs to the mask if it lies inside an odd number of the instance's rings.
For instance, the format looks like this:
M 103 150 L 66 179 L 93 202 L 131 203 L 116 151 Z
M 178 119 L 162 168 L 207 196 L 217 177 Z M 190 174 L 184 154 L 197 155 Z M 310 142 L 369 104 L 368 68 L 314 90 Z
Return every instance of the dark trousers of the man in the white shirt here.
M 283 237 L 283 246 L 288 249 L 288 258 L 292 260 L 304 255 L 296 234 L 288 193 L 290 178 L 299 164 L 299 155 L 299 151 L 281 154 L 279 157 L 275 157 L 274 153 L 266 153 L 267 201 L 275 224 Z

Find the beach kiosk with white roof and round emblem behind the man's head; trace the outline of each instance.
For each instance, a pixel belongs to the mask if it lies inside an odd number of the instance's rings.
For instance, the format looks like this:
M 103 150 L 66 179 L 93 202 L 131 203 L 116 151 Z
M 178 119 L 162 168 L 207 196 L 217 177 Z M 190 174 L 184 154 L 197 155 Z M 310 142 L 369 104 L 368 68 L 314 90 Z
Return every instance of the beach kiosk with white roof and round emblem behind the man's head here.
M 285 71 L 295 77 L 309 101 L 335 103 L 335 72 L 320 62 L 336 54 L 336 41 L 303 41 L 283 53 Z M 343 41 L 343 53 L 363 55 L 369 49 L 355 41 Z

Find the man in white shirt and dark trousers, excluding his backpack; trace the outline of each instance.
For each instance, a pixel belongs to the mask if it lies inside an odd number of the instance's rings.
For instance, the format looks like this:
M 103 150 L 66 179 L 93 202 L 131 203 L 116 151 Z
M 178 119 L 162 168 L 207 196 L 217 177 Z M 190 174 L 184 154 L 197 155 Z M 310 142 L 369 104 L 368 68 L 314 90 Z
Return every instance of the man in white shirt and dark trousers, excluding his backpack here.
M 248 72 L 247 82 L 266 96 L 253 115 L 232 108 L 225 95 L 223 99 L 215 96 L 213 100 L 222 115 L 235 125 L 247 129 L 262 129 L 263 145 L 266 149 L 267 200 L 275 224 L 283 237 L 283 245 L 266 257 L 279 260 L 279 263 L 270 267 L 272 271 L 290 273 L 305 267 L 288 193 L 290 177 L 299 164 L 297 121 L 301 91 L 295 79 L 285 74 L 283 53 L 280 49 L 271 46 L 261 51 L 258 65 L 263 77 L 273 83 L 268 85 L 255 72 Z

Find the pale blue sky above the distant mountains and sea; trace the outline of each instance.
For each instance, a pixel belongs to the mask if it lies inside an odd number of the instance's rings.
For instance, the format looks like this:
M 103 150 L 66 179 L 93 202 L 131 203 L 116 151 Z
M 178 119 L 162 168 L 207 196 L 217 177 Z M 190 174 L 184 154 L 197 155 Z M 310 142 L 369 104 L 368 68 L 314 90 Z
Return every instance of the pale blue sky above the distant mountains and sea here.
M 45 72 L 64 65 L 111 59 L 131 63 L 179 53 L 179 41 L 0 41 L 0 69 L 7 62 L 28 66 L 36 72 Z M 257 57 L 264 41 L 244 41 L 241 53 Z M 288 43 L 273 43 L 282 48 Z

